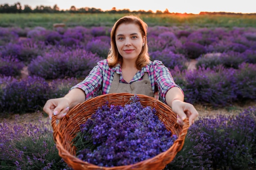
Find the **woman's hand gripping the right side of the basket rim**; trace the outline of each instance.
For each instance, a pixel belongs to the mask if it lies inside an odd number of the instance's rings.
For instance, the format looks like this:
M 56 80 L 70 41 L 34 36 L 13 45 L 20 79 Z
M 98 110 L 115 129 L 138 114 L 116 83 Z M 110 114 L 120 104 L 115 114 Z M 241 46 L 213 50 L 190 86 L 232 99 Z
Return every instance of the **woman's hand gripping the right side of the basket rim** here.
M 184 119 L 189 118 L 189 126 L 191 126 L 195 119 L 198 117 L 198 111 L 195 107 L 186 102 L 182 102 L 179 99 L 172 101 L 172 110 L 177 114 L 177 124 L 183 125 Z

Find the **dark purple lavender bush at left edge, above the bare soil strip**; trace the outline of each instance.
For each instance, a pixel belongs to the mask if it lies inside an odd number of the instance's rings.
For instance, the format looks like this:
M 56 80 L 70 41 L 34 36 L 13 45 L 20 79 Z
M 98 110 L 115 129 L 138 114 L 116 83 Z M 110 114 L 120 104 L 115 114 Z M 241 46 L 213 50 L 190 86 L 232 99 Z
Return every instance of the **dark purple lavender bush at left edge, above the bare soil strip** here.
M 29 76 L 20 80 L 1 78 L 0 83 L 2 112 L 31 113 L 41 108 L 49 98 L 49 85 L 42 77 Z

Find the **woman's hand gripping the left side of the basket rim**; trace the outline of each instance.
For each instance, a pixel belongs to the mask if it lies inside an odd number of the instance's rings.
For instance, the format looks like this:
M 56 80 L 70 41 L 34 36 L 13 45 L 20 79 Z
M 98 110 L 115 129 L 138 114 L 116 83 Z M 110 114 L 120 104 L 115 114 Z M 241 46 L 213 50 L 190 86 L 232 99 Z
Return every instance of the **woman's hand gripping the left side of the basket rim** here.
M 69 100 L 66 97 L 61 97 L 47 100 L 43 110 L 49 115 L 50 119 L 52 119 L 54 115 L 56 119 L 61 119 L 67 114 L 69 108 Z

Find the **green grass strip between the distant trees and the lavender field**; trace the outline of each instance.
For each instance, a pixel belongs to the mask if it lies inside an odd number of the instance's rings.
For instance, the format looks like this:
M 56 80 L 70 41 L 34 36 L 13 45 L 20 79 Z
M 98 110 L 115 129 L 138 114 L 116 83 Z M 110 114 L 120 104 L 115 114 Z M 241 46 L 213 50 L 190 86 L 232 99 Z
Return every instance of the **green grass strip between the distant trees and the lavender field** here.
M 33 28 L 43 26 L 52 29 L 54 23 L 73 26 L 113 26 L 126 14 L 111 13 L 1 13 L 0 27 Z M 256 27 L 254 14 L 139 14 L 148 26 L 196 26 L 196 27 Z

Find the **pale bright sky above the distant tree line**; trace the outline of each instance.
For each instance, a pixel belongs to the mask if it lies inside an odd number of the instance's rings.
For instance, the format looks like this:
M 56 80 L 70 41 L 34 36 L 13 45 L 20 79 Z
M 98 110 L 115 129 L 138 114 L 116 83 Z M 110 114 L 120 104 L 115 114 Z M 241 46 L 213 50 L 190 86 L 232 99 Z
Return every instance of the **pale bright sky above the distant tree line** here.
M 36 6 L 50 6 L 55 4 L 62 10 L 89 7 L 111 10 L 130 9 L 130 11 L 151 10 L 153 12 L 165 11 L 174 13 L 200 12 L 233 12 L 233 13 L 256 13 L 254 0 L 0 0 L 0 4 L 13 5 L 20 2 L 21 6 L 29 5 L 32 9 Z

